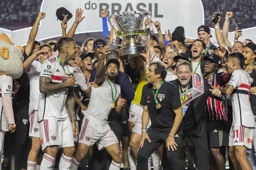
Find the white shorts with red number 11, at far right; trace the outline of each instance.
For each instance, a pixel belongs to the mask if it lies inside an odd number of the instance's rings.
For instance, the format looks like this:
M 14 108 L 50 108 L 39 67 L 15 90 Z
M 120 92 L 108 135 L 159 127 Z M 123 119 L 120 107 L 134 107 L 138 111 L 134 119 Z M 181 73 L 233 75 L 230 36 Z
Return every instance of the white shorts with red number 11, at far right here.
M 253 128 L 243 126 L 232 126 L 229 132 L 229 146 L 245 146 L 252 148 Z

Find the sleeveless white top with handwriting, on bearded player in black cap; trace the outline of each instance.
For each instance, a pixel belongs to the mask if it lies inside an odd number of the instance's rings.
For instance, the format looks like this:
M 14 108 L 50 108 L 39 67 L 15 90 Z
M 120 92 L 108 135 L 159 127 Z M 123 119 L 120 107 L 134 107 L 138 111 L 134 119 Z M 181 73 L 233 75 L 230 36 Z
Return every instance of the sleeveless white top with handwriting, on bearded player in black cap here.
M 111 83 L 115 101 L 118 99 L 121 88 L 119 85 Z M 116 95 L 115 95 L 115 87 L 116 87 Z M 88 109 L 86 111 L 82 110 L 82 113 L 85 118 L 95 122 L 97 125 L 106 125 L 108 120 L 108 115 L 111 108 L 112 103 L 112 92 L 111 87 L 107 80 L 104 81 L 104 83 L 98 87 L 94 88 L 92 86 L 92 92 L 90 97 L 90 102 L 88 105 Z

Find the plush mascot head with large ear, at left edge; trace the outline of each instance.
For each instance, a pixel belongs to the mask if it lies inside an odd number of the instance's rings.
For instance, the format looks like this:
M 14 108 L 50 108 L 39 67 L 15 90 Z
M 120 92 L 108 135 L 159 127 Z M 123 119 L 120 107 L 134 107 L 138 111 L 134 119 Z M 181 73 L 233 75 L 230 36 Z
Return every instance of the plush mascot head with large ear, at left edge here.
M 24 48 L 14 46 L 9 36 L 0 33 L 0 75 L 9 74 L 13 79 L 20 78 L 23 73 Z

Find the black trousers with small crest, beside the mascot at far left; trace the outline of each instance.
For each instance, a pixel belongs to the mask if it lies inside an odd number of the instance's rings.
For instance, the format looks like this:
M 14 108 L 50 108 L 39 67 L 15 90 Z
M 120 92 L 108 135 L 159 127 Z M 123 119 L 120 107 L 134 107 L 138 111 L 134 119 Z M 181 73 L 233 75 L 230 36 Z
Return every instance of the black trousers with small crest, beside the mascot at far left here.
M 4 151 L 9 161 L 6 170 L 20 168 L 27 169 L 27 158 L 31 148 L 29 133 L 28 101 L 18 101 L 14 104 L 14 119 L 16 130 L 5 133 Z

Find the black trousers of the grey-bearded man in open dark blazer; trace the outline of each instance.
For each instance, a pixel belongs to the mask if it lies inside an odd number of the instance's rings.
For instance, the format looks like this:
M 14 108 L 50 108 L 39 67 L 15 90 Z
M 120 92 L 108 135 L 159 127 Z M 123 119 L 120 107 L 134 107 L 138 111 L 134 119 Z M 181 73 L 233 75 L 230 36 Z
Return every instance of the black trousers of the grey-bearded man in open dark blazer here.
M 198 170 L 209 169 L 209 157 L 207 148 L 207 133 L 198 137 L 193 130 L 183 131 L 182 137 L 188 137 L 194 145 Z

